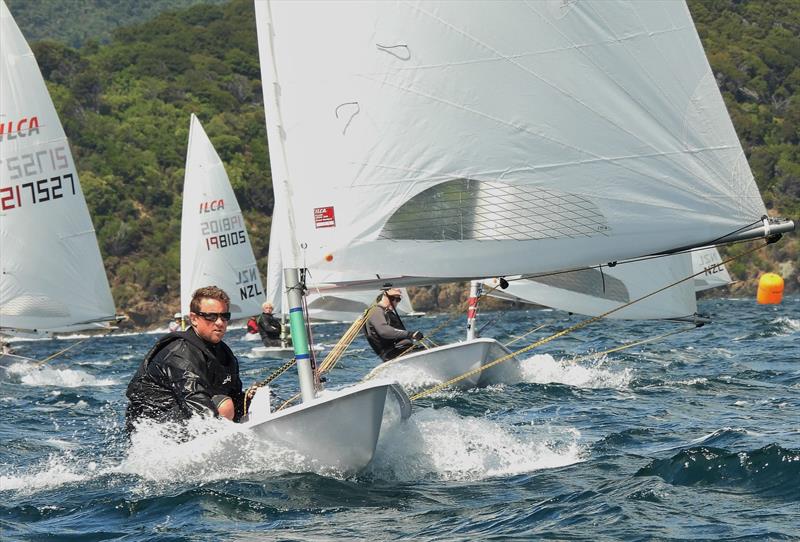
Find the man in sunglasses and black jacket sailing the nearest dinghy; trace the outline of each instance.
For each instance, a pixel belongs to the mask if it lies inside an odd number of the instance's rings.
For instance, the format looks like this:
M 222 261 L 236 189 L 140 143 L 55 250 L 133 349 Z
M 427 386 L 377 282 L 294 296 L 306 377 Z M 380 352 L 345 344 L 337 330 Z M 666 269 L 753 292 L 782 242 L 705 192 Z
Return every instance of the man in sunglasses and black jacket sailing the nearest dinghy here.
M 189 304 L 191 327 L 160 338 L 128 384 L 126 429 L 140 418 L 182 421 L 210 414 L 243 415 L 239 362 L 222 338 L 231 319 L 230 298 L 216 286 L 200 288 Z

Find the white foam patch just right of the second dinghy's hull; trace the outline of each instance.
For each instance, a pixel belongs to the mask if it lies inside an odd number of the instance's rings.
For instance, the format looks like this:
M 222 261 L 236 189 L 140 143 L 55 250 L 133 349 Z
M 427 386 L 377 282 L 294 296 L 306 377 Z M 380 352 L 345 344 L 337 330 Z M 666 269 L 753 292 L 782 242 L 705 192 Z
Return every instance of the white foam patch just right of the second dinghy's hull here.
M 523 380 L 535 384 L 566 384 L 576 388 L 627 389 L 633 380 L 633 371 L 625 368 L 611 370 L 605 367 L 608 358 L 575 362 L 557 361 L 549 354 L 531 356 L 522 363 Z

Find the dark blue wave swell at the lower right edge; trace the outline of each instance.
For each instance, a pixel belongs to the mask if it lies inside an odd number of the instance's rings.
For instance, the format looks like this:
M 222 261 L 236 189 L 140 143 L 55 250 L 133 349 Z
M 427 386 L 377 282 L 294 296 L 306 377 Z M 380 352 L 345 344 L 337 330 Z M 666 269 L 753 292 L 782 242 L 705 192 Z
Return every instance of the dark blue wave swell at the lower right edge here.
M 800 450 L 770 444 L 747 452 L 691 447 L 655 459 L 636 476 L 658 476 L 678 486 L 710 486 L 766 496 L 800 498 Z

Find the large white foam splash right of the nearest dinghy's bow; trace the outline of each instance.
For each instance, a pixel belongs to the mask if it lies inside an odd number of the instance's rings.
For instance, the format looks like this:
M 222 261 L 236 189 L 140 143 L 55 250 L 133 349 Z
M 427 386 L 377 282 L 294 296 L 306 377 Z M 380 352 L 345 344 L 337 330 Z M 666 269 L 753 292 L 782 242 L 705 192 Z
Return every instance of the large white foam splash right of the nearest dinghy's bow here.
M 418 410 L 381 434 L 368 473 L 382 479 L 481 480 L 582 460 L 572 428 L 503 427 L 449 408 Z

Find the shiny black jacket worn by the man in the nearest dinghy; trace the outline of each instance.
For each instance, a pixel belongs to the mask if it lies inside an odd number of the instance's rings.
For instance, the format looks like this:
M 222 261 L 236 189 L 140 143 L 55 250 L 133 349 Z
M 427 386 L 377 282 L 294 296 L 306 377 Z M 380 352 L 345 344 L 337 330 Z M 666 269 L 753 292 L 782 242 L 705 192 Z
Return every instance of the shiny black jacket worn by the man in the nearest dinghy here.
M 126 429 L 140 417 L 181 421 L 193 414 L 218 415 L 221 396 L 233 399 L 234 421 L 243 414 L 239 362 L 223 342 L 204 341 L 193 328 L 161 337 L 133 375 L 126 394 Z

